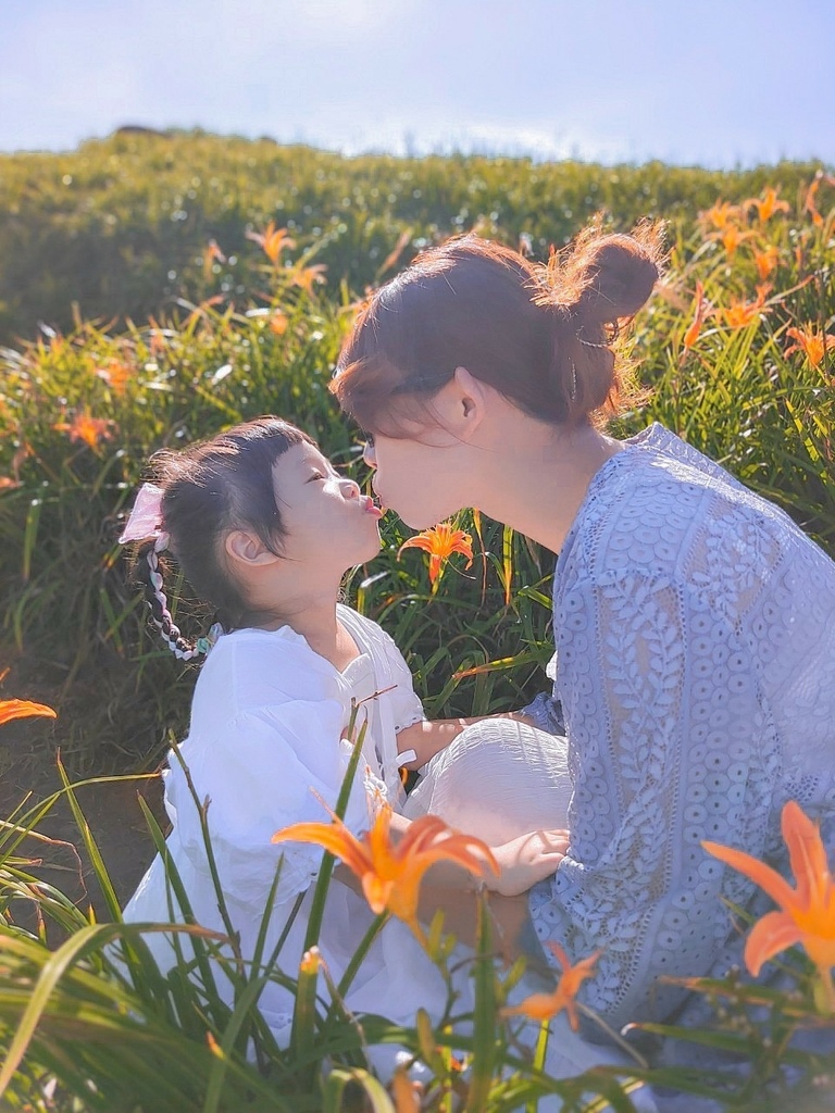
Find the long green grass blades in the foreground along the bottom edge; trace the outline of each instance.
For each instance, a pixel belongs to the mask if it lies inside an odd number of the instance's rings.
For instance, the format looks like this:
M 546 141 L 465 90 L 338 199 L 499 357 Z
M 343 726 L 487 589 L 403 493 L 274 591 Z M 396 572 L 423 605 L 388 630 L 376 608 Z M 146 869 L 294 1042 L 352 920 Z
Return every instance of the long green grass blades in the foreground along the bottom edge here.
M 361 747 L 358 738 L 356 756 Z M 700 1048 L 741 1055 L 750 1066 L 747 1076 L 706 1066 L 650 1068 L 638 1056 L 633 1065 L 598 1066 L 573 1078 L 550 1077 L 542 1065 L 544 1033 L 531 1054 L 519 1042 L 518 1022 L 502 1015 L 522 969 L 519 964 L 510 971 L 499 967 L 483 905 L 468 969 L 473 983 L 472 1011 L 462 1007 L 453 991 L 451 964 L 460 959 L 452 955 L 453 940 L 436 920 L 429 930 L 426 949 L 449 986 L 446 1007 L 433 1018 L 419 1011 L 412 1025 L 396 1026 L 385 1017 L 350 1013 L 344 1005 L 347 972 L 338 992 L 331 987 L 325 995 L 322 978 L 327 975 L 315 961 L 303 962 L 295 976 L 277 965 L 279 953 L 268 956 L 261 948 L 250 962 L 243 961 L 234 933 L 219 936 L 194 924 L 170 863 L 166 873 L 174 907 L 183 910 L 174 928 L 180 957 L 170 969 L 161 969 L 145 939 L 150 933 L 170 933 L 171 926 L 120 922 L 112 885 L 76 800 L 81 786 L 71 786 L 62 776 L 61 792 L 0 824 L 3 1109 L 20 1113 L 407 1113 L 411 1106 L 405 1100 L 395 1099 L 396 1091 L 387 1091 L 373 1073 L 367 1048 L 377 1043 L 397 1044 L 431 1068 L 433 1082 L 420 1105 L 426 1113 L 536 1111 L 538 1100 L 548 1095 L 559 1095 L 567 1113 L 609 1109 L 632 1113 L 629 1095 L 641 1080 L 714 1097 L 726 1110 L 778 1113 L 787 1101 L 804 1113 L 827 1107 L 826 1072 L 832 1064 L 788 1046 L 798 1032 L 833 1028 L 832 1016 L 815 1004 L 811 964 L 798 956 L 786 961 L 786 987 L 779 991 L 752 985 L 737 975 L 694 983 L 691 988 L 710 1005 L 709 1026 L 703 1030 L 645 1025 L 660 1038 L 675 1036 Z M 346 785 L 350 778 L 351 772 Z M 37 831 L 61 795 L 70 802 L 79 838 L 109 902 L 109 923 L 96 923 L 60 889 L 46 885 L 38 877 L 38 863 L 21 854 L 27 836 Z M 343 805 L 346 797 L 343 791 Z M 196 797 L 195 802 L 199 802 Z M 147 819 L 153 839 L 164 850 L 161 831 L 150 814 Z M 204 839 L 210 860 L 207 829 Z M 214 881 L 218 906 L 226 915 L 216 875 Z M 311 946 L 321 922 L 316 909 L 324 907 L 330 883 L 330 868 L 323 868 L 310 917 Z M 36 929 L 16 922 L 21 902 L 37 907 Z M 265 912 L 265 925 L 269 915 Z M 377 917 L 375 929 L 382 928 L 384 919 Z M 202 972 L 199 983 L 191 975 L 195 965 Z M 229 992 L 218 992 L 220 974 L 228 979 Z M 271 979 L 279 981 L 294 999 L 287 1047 L 276 1044 L 257 1008 L 259 993 Z

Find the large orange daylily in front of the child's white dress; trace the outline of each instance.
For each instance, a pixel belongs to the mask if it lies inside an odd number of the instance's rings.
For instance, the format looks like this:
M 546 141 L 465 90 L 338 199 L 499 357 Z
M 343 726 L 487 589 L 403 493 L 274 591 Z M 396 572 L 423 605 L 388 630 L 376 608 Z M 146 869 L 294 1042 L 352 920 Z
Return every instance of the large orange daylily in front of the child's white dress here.
M 391 913 L 423 938 L 418 924 L 418 898 L 430 866 L 435 861 L 455 861 L 481 877 L 488 869 L 498 875 L 499 867 L 481 839 L 454 831 L 438 816 L 413 820 L 396 845 L 390 835 L 391 820 L 391 806 L 384 805 L 361 839 L 334 816 L 330 824 L 292 824 L 276 831 L 273 843 L 315 843 L 342 858 L 360 878 L 372 912 Z

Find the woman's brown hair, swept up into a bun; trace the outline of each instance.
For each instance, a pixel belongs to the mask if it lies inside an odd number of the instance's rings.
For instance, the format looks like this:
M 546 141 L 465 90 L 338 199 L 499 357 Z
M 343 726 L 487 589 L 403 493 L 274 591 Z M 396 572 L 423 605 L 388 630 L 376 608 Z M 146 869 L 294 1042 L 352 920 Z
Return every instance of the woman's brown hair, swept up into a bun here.
M 628 380 L 612 347 L 660 268 L 660 229 L 597 225 L 547 264 L 478 236 L 423 253 L 379 289 L 340 354 L 331 391 L 371 433 L 430 420 L 456 367 L 541 421 L 582 424 L 617 413 Z

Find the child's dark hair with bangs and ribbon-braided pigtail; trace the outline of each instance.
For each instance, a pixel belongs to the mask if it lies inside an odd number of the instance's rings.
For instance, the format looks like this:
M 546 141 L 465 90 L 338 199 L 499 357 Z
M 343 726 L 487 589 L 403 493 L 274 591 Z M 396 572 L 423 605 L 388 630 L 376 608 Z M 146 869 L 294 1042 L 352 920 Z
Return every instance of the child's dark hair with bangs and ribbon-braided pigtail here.
M 166 548 L 199 599 L 215 608 L 225 630 L 240 626 L 247 603 L 225 567 L 223 538 L 230 530 L 252 530 L 271 552 L 279 553 L 284 528 L 273 467 L 287 449 L 302 443 L 315 444 L 288 422 L 267 416 L 150 460 L 151 480 L 163 491 Z M 190 660 L 206 652 L 207 642 L 187 640 L 174 623 L 163 590 L 159 548 L 154 541 L 139 548 L 135 577 L 164 641 L 177 657 Z

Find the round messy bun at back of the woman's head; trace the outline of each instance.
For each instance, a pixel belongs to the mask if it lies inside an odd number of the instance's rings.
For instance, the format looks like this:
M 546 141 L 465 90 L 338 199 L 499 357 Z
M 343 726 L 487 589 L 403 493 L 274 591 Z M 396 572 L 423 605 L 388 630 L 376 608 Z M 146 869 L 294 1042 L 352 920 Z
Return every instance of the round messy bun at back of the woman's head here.
M 580 325 L 603 325 L 633 316 L 648 301 L 658 277 L 657 237 L 641 242 L 612 234 L 578 244 L 567 262 L 569 304 Z

